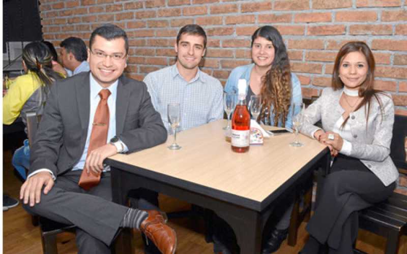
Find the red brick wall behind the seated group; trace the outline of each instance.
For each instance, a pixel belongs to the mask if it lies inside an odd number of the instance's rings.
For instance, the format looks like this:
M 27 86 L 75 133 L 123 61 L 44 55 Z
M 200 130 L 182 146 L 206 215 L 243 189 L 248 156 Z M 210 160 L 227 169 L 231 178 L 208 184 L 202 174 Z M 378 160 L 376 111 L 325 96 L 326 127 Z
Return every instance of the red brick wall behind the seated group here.
M 202 70 L 224 83 L 232 68 L 250 62 L 250 35 L 266 24 L 283 35 L 292 64 L 311 97 L 330 85 L 333 59 L 343 43 L 365 41 L 377 63 L 376 87 L 389 91 L 407 115 L 406 0 L 40 0 L 44 39 L 88 42 L 102 23 L 130 38 L 127 73 L 141 80 L 174 61 L 178 30 L 201 25 L 209 36 Z

